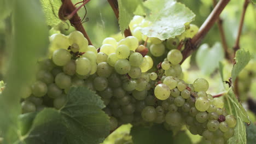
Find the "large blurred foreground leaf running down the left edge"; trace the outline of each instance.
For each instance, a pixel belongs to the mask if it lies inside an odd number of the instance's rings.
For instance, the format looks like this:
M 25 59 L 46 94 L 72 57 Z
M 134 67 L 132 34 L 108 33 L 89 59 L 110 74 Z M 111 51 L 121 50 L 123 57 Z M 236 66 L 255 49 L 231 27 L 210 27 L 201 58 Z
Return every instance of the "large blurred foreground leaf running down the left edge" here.
M 0 97 L 0 127 L 4 143 L 18 139 L 21 86 L 33 79 L 37 58 L 48 49 L 48 28 L 39 1 L 15 1 L 11 22 L 15 31 L 5 33 L 10 62 L 5 87 Z

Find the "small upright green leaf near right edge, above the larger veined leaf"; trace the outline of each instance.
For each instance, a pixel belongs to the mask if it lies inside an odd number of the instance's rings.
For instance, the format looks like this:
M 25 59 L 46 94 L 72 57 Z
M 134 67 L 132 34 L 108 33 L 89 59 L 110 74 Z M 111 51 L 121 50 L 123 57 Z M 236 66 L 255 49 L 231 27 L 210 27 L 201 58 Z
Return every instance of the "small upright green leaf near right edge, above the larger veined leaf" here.
M 240 73 L 240 71 L 246 67 L 248 62 L 251 59 L 251 54 L 249 51 L 246 51 L 244 49 L 240 49 L 236 51 L 236 64 L 232 68 L 231 71 L 231 77 L 232 81 L 234 82 L 236 80 L 237 75 Z

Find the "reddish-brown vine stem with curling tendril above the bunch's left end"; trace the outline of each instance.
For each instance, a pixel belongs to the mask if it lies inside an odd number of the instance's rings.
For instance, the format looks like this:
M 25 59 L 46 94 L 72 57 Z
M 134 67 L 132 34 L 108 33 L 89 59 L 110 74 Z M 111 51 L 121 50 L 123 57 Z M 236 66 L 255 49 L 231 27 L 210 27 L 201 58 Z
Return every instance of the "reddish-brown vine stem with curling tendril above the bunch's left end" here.
M 80 5 L 79 8 L 75 8 L 75 6 L 71 2 L 71 0 L 61 0 L 62 5 L 59 10 L 59 17 L 61 20 L 63 20 L 64 17 L 65 17 L 65 19 L 68 18 L 71 25 L 74 26 L 74 28 L 77 31 L 80 31 L 81 33 L 83 33 L 84 37 L 88 40 L 89 45 L 92 45 L 91 40 L 82 25 L 81 19 L 77 14 L 77 11 L 81 7 L 83 7 L 84 4 L 88 3 L 89 1 L 90 0 L 87 0 L 82 5 Z

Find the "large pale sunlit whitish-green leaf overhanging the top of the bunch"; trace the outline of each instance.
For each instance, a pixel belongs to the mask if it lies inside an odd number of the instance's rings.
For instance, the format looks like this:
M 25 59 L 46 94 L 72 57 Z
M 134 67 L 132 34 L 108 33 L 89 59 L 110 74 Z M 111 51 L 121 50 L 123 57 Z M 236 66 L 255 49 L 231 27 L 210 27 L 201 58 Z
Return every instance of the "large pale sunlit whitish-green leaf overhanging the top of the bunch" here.
M 195 14 L 184 4 L 173 0 L 148 0 L 144 5 L 151 10 L 146 19 L 152 25 L 141 29 L 148 37 L 161 40 L 174 38 L 185 31 L 185 23 L 194 20 Z

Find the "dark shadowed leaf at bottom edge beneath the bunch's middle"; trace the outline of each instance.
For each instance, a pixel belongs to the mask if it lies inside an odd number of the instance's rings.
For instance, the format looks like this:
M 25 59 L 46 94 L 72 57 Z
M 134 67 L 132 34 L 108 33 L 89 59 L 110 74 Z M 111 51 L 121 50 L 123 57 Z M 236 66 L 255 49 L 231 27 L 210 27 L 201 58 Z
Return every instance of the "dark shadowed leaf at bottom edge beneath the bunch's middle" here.
M 162 124 L 152 127 L 132 127 L 132 140 L 134 144 L 166 144 L 172 143 L 172 132 L 167 131 Z

